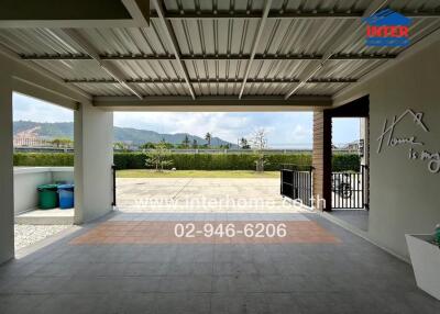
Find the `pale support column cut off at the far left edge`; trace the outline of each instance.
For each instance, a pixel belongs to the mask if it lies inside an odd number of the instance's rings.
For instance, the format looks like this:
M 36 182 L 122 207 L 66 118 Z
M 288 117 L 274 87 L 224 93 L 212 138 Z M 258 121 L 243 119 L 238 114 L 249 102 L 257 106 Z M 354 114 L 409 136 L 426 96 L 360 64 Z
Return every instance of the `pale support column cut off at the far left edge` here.
M 0 265 L 14 257 L 12 79 L 0 71 Z

